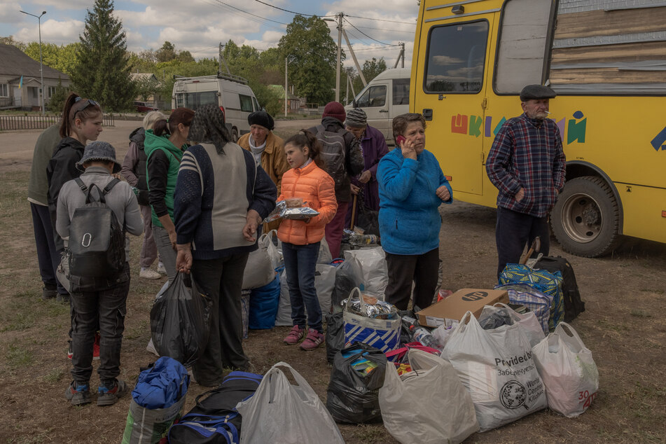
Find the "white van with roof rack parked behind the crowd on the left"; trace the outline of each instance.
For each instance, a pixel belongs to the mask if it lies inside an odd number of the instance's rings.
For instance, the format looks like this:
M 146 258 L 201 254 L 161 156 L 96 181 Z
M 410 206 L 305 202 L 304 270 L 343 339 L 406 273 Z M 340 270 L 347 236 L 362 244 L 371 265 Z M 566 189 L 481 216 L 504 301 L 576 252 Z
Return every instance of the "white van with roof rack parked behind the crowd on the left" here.
M 233 74 L 216 76 L 177 77 L 171 100 L 172 109 L 182 106 L 197 110 L 199 106 L 219 106 L 225 117 L 229 134 L 237 141 L 242 134 L 250 132 L 247 116 L 260 111 L 252 88 L 247 80 Z

